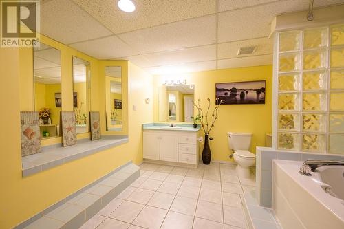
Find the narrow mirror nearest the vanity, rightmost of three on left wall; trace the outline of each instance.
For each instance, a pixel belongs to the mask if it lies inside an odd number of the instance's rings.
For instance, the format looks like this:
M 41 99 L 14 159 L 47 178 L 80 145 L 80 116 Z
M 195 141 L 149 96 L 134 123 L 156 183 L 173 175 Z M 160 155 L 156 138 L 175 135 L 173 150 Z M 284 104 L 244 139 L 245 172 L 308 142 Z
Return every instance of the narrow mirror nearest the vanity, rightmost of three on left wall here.
M 105 66 L 107 131 L 122 131 L 122 67 Z

